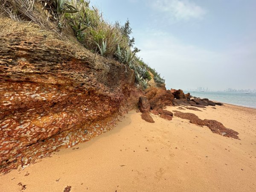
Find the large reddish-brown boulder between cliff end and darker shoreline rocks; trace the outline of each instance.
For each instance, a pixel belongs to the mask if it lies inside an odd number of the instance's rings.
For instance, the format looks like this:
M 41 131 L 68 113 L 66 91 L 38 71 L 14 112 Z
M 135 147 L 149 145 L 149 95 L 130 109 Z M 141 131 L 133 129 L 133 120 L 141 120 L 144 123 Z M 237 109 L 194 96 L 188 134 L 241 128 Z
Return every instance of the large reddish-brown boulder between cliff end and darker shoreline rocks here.
M 151 109 L 161 109 L 165 106 L 172 106 L 174 96 L 170 90 L 152 87 L 146 90 L 145 96 L 150 103 Z

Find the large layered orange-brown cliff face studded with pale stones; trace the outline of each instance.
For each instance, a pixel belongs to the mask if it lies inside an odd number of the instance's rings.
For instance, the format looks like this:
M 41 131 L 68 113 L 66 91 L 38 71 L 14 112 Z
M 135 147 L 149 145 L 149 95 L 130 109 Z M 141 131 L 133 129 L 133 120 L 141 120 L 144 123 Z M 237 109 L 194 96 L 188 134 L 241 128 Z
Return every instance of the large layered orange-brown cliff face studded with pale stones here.
M 0 23 L 0 172 L 111 130 L 137 106 L 132 70 L 12 24 Z

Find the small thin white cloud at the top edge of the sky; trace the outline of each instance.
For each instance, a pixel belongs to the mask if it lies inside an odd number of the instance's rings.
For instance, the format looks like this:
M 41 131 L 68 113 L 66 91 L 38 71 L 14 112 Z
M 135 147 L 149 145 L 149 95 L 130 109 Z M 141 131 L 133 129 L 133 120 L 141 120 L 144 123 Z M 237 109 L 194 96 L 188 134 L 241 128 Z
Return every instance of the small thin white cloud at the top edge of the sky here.
M 201 19 L 206 14 L 205 9 L 188 0 L 156 0 L 151 6 L 175 20 Z

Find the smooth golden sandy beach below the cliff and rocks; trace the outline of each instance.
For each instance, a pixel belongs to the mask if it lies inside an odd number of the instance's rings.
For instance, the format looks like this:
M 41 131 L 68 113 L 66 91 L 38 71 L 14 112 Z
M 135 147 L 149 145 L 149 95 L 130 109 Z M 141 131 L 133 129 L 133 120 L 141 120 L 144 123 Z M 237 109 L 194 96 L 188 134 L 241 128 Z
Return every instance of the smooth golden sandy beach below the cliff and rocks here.
M 256 191 L 256 109 L 166 109 L 217 120 L 241 140 L 176 116 L 148 123 L 134 110 L 112 131 L 1 175 L 0 191 Z

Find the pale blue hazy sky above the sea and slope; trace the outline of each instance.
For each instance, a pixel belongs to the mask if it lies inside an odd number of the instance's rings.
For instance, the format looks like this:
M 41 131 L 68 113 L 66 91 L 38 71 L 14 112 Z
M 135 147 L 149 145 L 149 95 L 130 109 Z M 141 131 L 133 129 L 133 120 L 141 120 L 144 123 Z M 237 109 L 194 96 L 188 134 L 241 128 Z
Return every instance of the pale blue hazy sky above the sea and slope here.
M 91 0 L 129 19 L 137 55 L 166 88 L 256 89 L 256 0 Z

